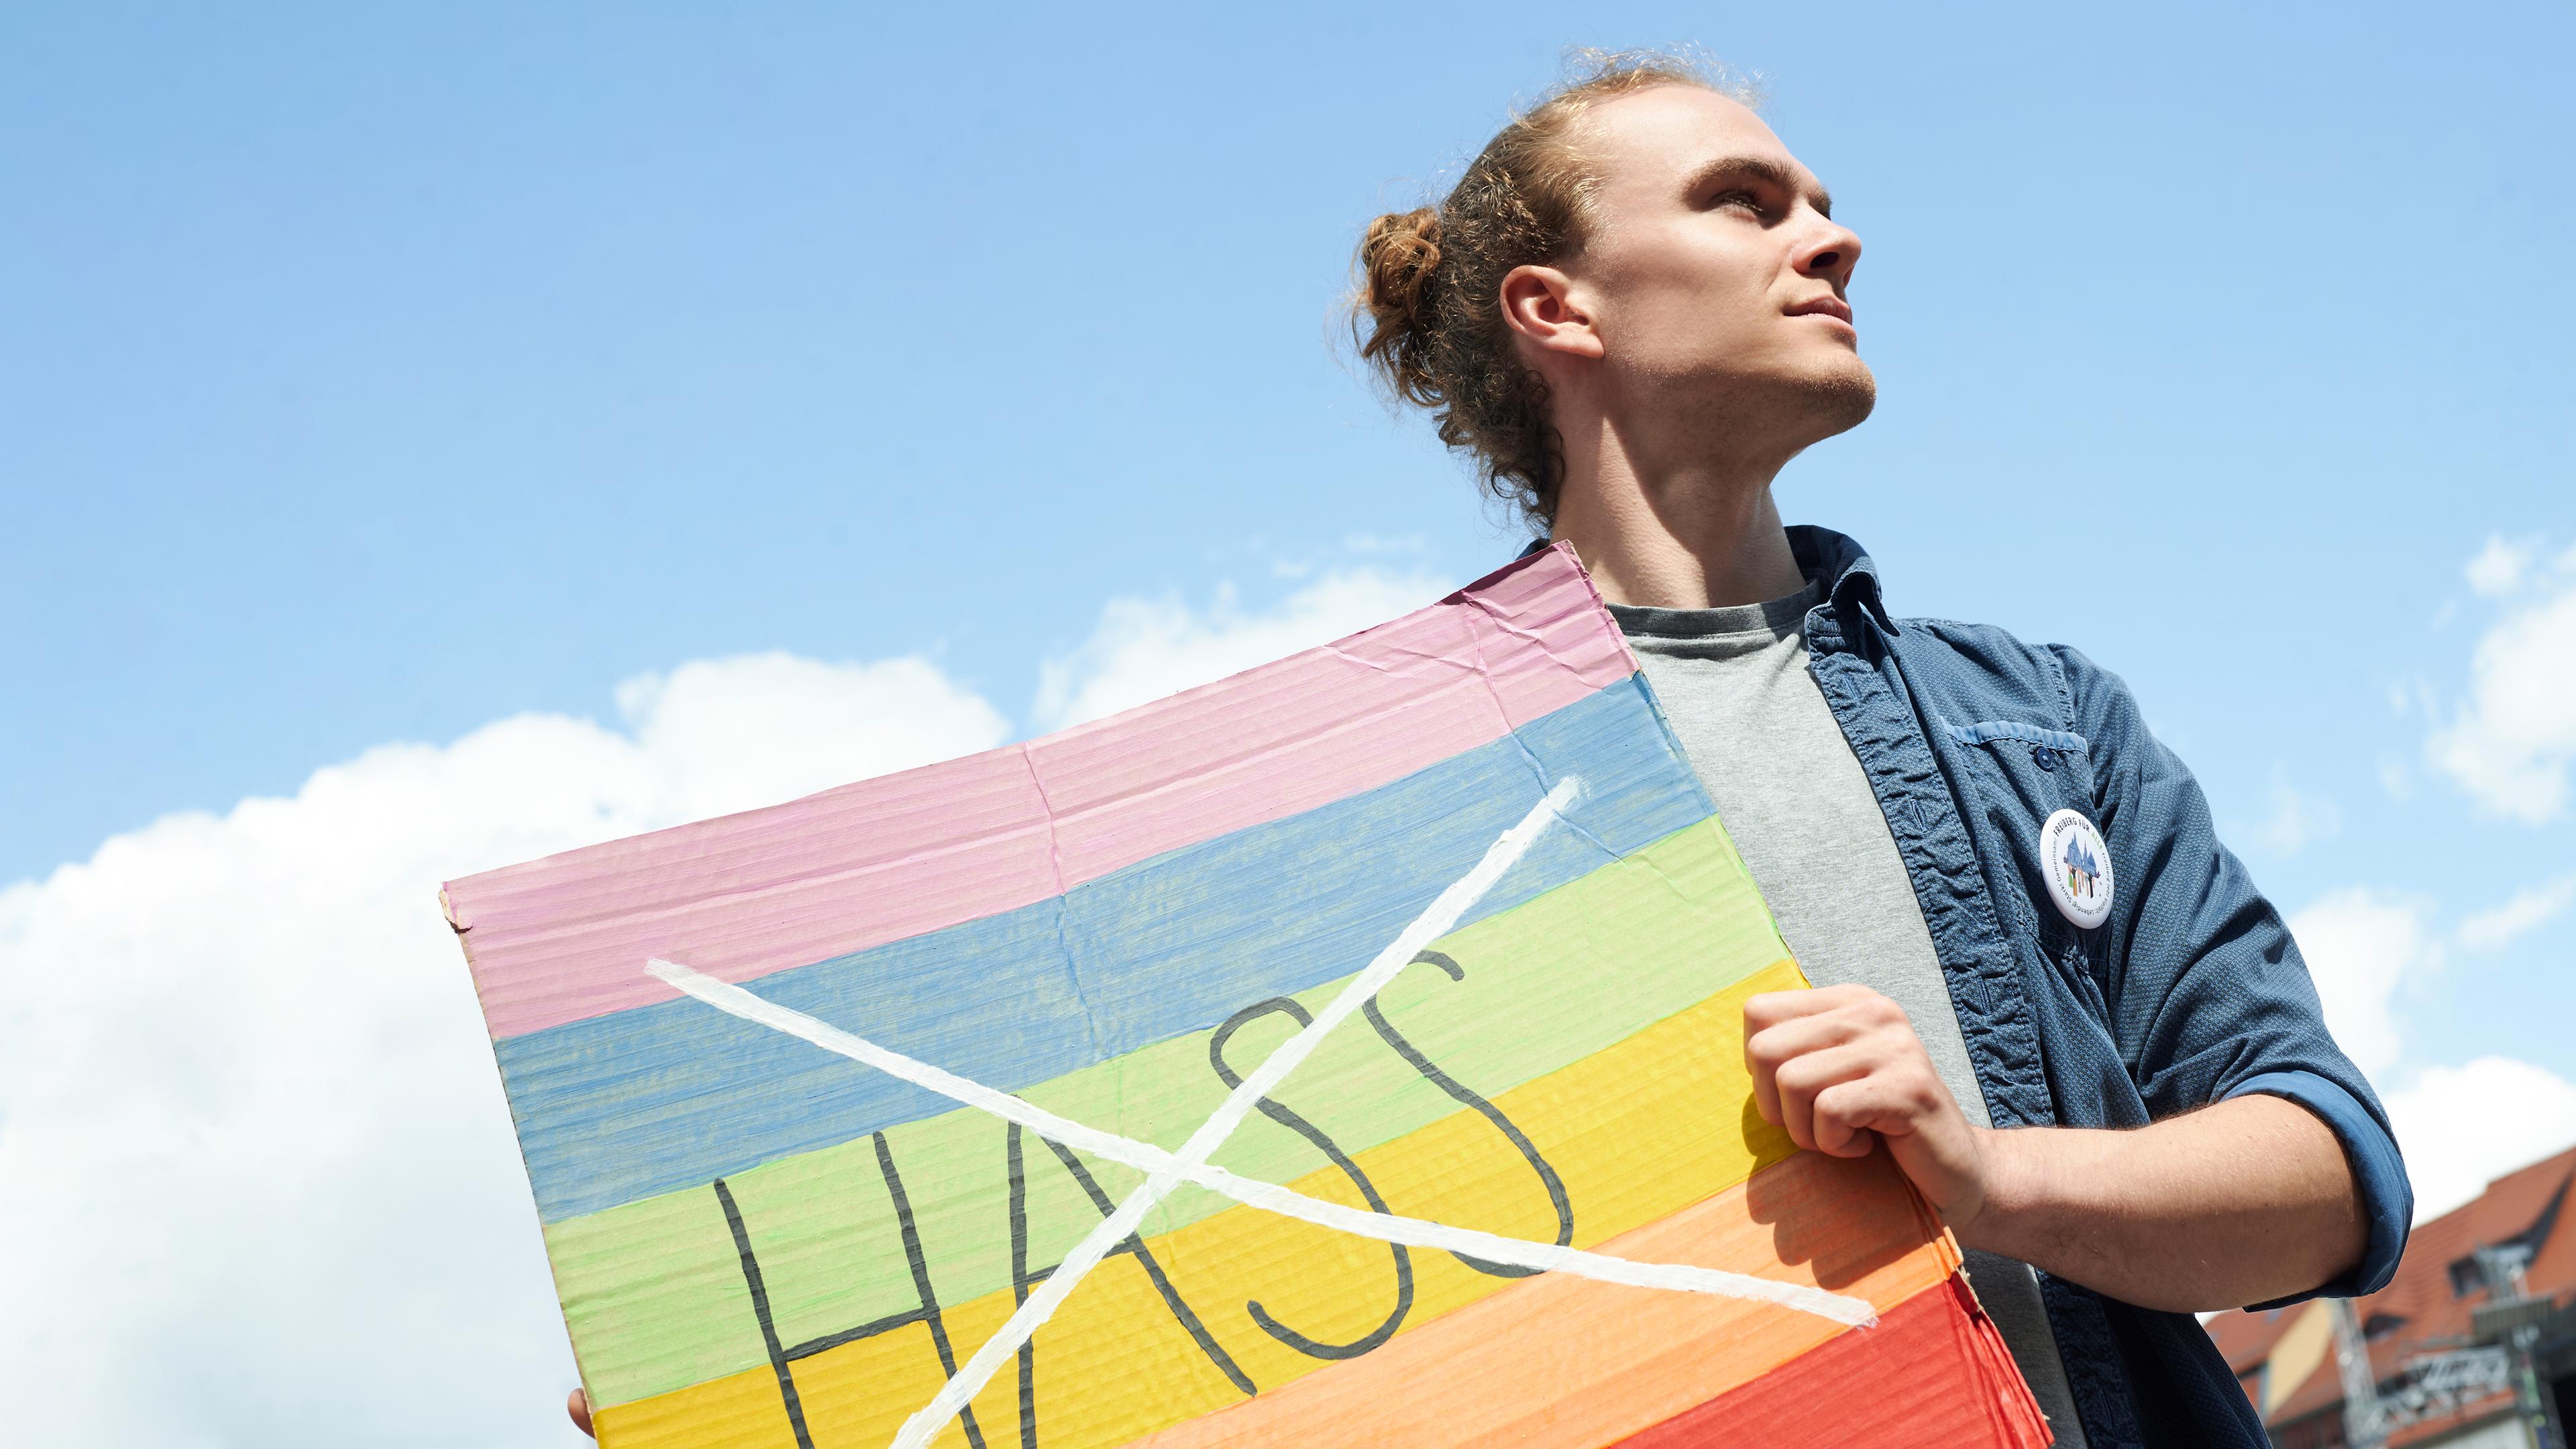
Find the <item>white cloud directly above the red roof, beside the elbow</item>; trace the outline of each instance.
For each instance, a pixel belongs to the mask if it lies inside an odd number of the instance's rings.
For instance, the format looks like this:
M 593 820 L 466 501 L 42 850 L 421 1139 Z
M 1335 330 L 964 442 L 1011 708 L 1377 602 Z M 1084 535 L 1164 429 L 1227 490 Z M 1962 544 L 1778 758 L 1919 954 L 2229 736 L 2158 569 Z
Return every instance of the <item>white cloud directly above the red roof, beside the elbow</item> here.
M 2576 1083 L 2512 1057 L 2427 1067 L 2406 1091 L 2385 1093 L 2385 1106 L 2414 1178 L 2416 1222 L 2576 1142 Z

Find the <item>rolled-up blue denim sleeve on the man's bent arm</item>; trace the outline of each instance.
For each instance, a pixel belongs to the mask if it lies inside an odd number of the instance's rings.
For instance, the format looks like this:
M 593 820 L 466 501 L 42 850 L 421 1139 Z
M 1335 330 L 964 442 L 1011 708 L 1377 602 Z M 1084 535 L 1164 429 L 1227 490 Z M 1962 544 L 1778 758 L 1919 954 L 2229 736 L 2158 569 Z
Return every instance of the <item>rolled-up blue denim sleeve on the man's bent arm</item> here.
M 2154 1116 L 2246 1093 L 2313 1111 L 2344 1147 L 2370 1240 L 2352 1271 L 2280 1302 L 2385 1287 L 2414 1217 L 2388 1111 L 2326 1031 L 2280 910 L 2218 843 L 2200 781 L 2146 727 L 2117 676 L 2076 650 L 2053 652 L 2089 743 L 2094 817 L 2112 851 L 2105 995 L 2130 1080 Z

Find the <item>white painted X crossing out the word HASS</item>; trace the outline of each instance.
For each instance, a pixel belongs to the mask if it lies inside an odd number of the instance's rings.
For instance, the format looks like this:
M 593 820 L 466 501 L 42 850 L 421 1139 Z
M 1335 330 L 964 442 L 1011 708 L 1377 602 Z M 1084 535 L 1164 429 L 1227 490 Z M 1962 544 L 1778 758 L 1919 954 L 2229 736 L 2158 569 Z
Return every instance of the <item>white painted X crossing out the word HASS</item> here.
M 1466 1253 L 1473 1258 L 1486 1258 L 1492 1263 L 1512 1263 L 1522 1269 L 1564 1271 L 1587 1279 L 1631 1284 L 1643 1289 L 1674 1289 L 1674 1292 L 1700 1292 L 1716 1297 L 1739 1297 L 1775 1302 L 1780 1307 L 1793 1307 L 1798 1312 L 1814 1312 L 1834 1323 L 1870 1325 L 1878 1323 L 1875 1310 L 1868 1299 L 1832 1294 L 1806 1284 L 1783 1284 L 1772 1279 L 1757 1279 L 1752 1274 L 1731 1274 L 1726 1269 L 1698 1269 L 1687 1263 L 1636 1263 L 1631 1258 L 1610 1258 L 1605 1253 L 1584 1253 L 1579 1248 L 1558 1248 L 1556 1243 L 1528 1243 L 1520 1238 L 1502 1238 L 1494 1232 L 1476 1232 L 1473 1227 L 1450 1227 L 1445 1222 L 1425 1222 L 1419 1217 L 1399 1217 L 1386 1212 L 1363 1212 L 1342 1207 L 1334 1201 L 1321 1201 L 1278 1183 L 1265 1183 L 1229 1173 L 1208 1163 L 1211 1155 L 1234 1134 L 1260 1098 L 1270 1096 L 1280 1080 L 1293 1073 L 1352 1011 L 1368 1003 L 1378 990 L 1386 987 L 1414 954 L 1445 936 L 1458 926 L 1476 900 L 1484 897 L 1494 882 L 1502 879 L 1512 864 L 1538 841 L 1538 835 L 1582 794 L 1579 779 L 1564 779 L 1548 792 L 1520 825 L 1502 833 L 1499 841 L 1476 861 L 1466 877 L 1440 892 L 1412 926 L 1404 928 L 1378 957 L 1352 977 L 1316 1018 L 1291 1036 L 1280 1049 L 1270 1052 L 1249 1078 L 1236 1085 L 1226 1101 L 1180 1145 L 1177 1152 L 1154 1147 L 1151 1142 L 1139 1142 L 1133 1137 L 1121 1137 L 1115 1132 L 1103 1132 L 1097 1127 L 1084 1127 L 1066 1116 L 1056 1116 L 1041 1106 L 1030 1106 L 1018 1096 L 994 1091 L 989 1085 L 966 1080 L 956 1073 L 933 1067 L 904 1057 L 902 1052 L 889 1052 L 876 1042 L 853 1036 L 832 1024 L 817 1021 L 801 1011 L 791 1011 L 768 998 L 752 995 L 739 985 L 721 982 L 677 962 L 647 962 L 647 969 L 670 982 L 672 987 L 744 1021 L 770 1026 L 788 1036 L 811 1042 L 827 1052 L 837 1052 L 855 1062 L 866 1062 L 886 1075 L 902 1078 L 920 1088 L 935 1091 L 963 1106 L 989 1111 L 1005 1122 L 1018 1122 L 1020 1127 L 1074 1147 L 1079 1152 L 1092 1152 L 1113 1163 L 1123 1163 L 1146 1173 L 1146 1181 L 1118 1204 L 1118 1209 L 1100 1220 L 1082 1243 L 1056 1266 L 1054 1274 L 1038 1284 L 1038 1292 L 1010 1315 L 992 1338 L 984 1341 L 974 1356 L 958 1366 L 958 1372 L 940 1387 L 940 1392 L 922 1405 L 920 1413 L 904 1421 L 904 1428 L 894 1436 L 894 1449 L 922 1449 L 930 1436 L 940 1431 L 956 1413 L 974 1400 L 974 1395 L 992 1379 L 1005 1359 L 1020 1351 L 1038 1325 L 1056 1312 L 1056 1307 L 1074 1292 L 1084 1274 L 1100 1266 L 1118 1243 L 1126 1243 L 1131 1232 L 1144 1222 L 1144 1214 L 1154 1209 L 1172 1189 L 1180 1183 L 1203 1186 L 1247 1207 L 1275 1212 L 1280 1217 L 1293 1217 L 1298 1222 L 1314 1222 L 1319 1227 L 1332 1227 L 1340 1232 L 1352 1232 L 1360 1238 L 1376 1238 L 1381 1243 L 1404 1243 L 1409 1248 L 1437 1248 L 1450 1253 Z

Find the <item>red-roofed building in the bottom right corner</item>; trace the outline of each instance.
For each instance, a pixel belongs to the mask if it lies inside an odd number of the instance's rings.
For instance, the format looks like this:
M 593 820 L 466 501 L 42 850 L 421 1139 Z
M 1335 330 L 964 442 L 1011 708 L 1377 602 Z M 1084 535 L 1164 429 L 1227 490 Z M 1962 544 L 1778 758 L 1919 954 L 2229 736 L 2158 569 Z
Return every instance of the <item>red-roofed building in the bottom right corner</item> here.
M 2210 1320 L 2282 1449 L 2568 1449 L 2576 1413 L 2576 1147 L 2414 1230 L 2362 1299 Z M 2367 1379 L 2362 1359 L 2367 1356 Z M 2347 1385 L 2372 1385 L 2352 1403 Z

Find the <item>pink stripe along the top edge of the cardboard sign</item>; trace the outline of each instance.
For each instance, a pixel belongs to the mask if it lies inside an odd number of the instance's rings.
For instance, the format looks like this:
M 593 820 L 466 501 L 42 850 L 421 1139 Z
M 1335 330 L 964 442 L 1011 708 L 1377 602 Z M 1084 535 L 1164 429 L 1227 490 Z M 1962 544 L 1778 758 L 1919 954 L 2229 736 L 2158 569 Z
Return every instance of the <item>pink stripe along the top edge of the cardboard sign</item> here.
M 495 1036 L 994 915 L 1473 750 L 1636 670 L 1564 544 L 1061 735 L 448 882 Z

